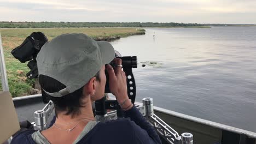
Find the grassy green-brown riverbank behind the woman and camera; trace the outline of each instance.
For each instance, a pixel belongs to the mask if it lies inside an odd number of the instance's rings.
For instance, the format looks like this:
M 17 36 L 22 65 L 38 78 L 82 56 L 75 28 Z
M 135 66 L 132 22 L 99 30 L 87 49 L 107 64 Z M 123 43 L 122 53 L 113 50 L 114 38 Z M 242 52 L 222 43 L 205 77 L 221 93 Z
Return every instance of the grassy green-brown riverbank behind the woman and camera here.
M 11 55 L 11 50 L 19 46 L 32 32 L 43 32 L 48 40 L 63 33 L 86 33 L 96 41 L 113 41 L 130 35 L 145 34 L 136 28 L 9 28 L 0 29 L 4 49 L 5 65 L 11 95 L 19 97 L 40 93 L 35 80 L 29 80 L 26 73 L 30 71 L 26 63 L 21 63 Z M 0 91 L 2 85 L 0 83 Z

